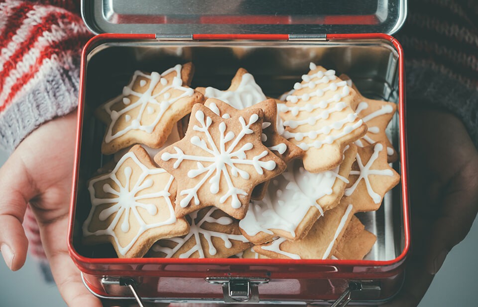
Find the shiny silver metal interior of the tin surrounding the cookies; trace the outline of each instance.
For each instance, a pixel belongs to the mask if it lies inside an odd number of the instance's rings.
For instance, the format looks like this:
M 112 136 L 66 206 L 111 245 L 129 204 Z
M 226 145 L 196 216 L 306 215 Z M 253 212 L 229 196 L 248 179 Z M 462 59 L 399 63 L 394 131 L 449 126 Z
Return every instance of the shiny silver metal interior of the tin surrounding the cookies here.
M 93 116 L 100 104 L 121 93 L 134 70 L 162 72 L 177 63 L 192 61 L 196 72 L 192 87 L 214 86 L 227 89 L 239 67 L 254 75 L 269 97 L 290 90 L 308 72 L 310 62 L 346 73 L 367 97 L 398 101 L 398 54 L 387 41 L 240 41 L 240 42 L 108 42 L 88 55 L 86 105 L 79 165 L 74 244 L 86 257 L 116 257 L 109 245 L 88 248 L 80 243 L 81 225 L 90 210 L 86 181 L 112 156 L 100 148 L 105 125 Z M 388 128 L 394 147 L 398 148 L 397 116 Z M 393 167 L 399 171 L 398 162 Z M 391 260 L 404 248 L 401 187 L 395 187 L 376 212 L 359 214 L 366 229 L 377 236 L 377 243 L 367 255 L 370 260 Z

